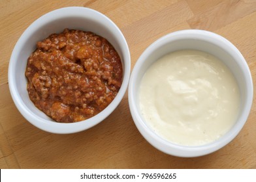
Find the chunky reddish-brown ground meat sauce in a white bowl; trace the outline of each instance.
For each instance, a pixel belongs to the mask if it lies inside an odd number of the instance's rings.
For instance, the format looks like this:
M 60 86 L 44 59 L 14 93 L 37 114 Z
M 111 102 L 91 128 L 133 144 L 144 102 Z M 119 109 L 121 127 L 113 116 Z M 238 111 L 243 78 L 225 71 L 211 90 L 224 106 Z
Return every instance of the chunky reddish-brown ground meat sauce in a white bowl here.
M 37 43 L 27 59 L 27 91 L 57 122 L 79 122 L 106 108 L 118 94 L 121 60 L 103 37 L 65 29 Z

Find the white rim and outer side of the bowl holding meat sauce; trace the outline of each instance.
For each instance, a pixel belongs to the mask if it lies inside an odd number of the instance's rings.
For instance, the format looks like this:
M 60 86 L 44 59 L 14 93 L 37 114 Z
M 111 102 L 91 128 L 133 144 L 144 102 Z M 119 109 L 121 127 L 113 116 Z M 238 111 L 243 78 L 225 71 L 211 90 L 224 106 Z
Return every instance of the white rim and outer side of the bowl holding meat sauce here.
M 87 13 L 85 14 L 85 12 Z M 123 50 L 125 50 L 125 53 L 123 53 L 123 81 L 121 84 L 121 88 L 116 98 L 114 98 L 114 100 L 110 103 L 110 105 L 108 105 L 108 107 L 106 107 L 106 109 L 102 110 L 99 114 L 87 120 L 75 123 L 58 123 L 46 120 L 44 118 L 40 118 L 39 116 L 37 116 L 37 114 L 31 112 L 31 110 L 25 105 L 25 103 L 20 98 L 20 94 L 16 86 L 14 70 L 16 66 L 17 55 L 20 51 L 22 51 L 22 47 L 20 45 L 22 45 L 22 43 L 24 43 L 25 40 L 27 40 L 27 38 L 29 38 L 29 36 L 33 32 L 35 32 L 38 26 L 41 26 L 41 23 L 43 25 L 44 23 L 49 23 L 55 21 L 56 19 L 69 18 L 70 16 L 77 16 L 78 18 L 88 18 L 88 14 L 90 16 L 96 16 L 98 18 L 101 17 L 102 19 L 104 19 L 104 22 L 107 25 L 106 27 L 112 27 L 117 33 L 116 36 L 118 36 L 120 42 L 122 43 L 121 47 Z M 118 107 L 121 99 L 123 99 L 123 96 L 125 95 L 125 92 L 127 90 L 130 72 L 131 56 L 129 52 L 129 47 L 127 41 L 125 40 L 125 37 L 123 36 L 118 26 L 110 18 L 108 18 L 101 12 L 98 12 L 97 10 L 82 6 L 69 6 L 52 10 L 51 12 L 40 16 L 40 18 L 33 21 L 33 23 L 31 23 L 31 25 L 29 25 L 29 27 L 25 29 L 25 31 L 16 42 L 16 45 L 14 46 L 10 57 L 10 62 L 8 65 L 8 86 L 14 104 L 28 122 L 30 122 L 32 125 L 35 125 L 39 129 L 42 129 L 43 131 L 47 131 L 49 133 L 69 134 L 84 131 L 93 127 L 94 125 L 97 125 L 98 123 L 102 122 L 106 117 L 108 117 L 114 111 L 114 109 L 116 109 L 116 107 Z

